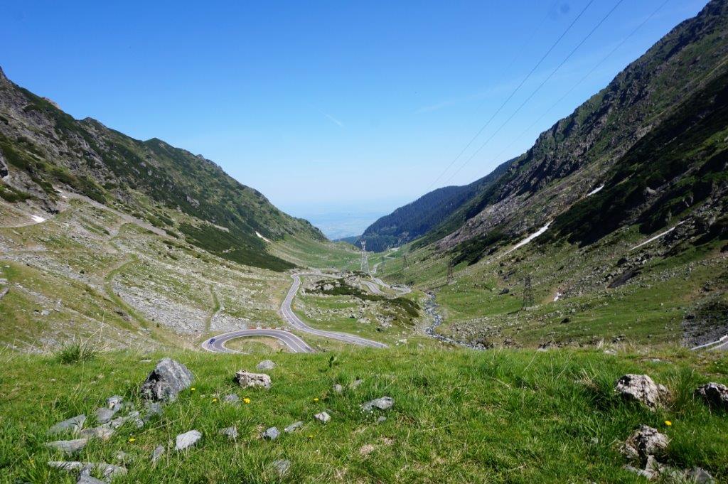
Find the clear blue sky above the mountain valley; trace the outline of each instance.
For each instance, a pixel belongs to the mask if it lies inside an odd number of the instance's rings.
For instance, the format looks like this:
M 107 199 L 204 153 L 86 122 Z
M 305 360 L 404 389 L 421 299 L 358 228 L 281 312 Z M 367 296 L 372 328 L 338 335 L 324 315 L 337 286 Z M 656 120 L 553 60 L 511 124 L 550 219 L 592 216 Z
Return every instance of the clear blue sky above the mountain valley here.
M 622 1 L 494 135 L 617 4 L 593 1 L 443 176 L 588 0 L 15 1 L 0 66 L 76 118 L 213 159 L 293 215 L 387 213 L 521 154 L 705 4 L 668 1 L 604 60 L 663 1 Z

